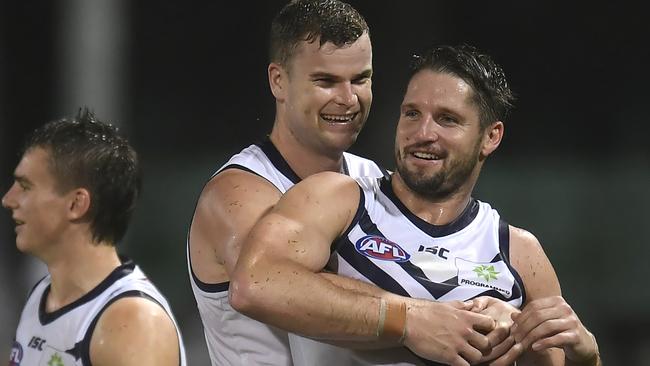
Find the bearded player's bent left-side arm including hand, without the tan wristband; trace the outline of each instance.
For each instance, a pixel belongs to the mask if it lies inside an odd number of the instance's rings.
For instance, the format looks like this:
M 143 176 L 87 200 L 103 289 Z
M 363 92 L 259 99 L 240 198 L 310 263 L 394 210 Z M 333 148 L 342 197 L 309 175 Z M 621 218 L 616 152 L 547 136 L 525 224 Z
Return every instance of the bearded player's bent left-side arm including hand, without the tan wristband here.
M 488 346 L 478 330 L 491 330 L 491 318 L 463 310 L 460 302 L 367 294 L 363 286 L 341 287 L 318 273 L 359 197 L 356 182 L 335 173 L 309 177 L 287 192 L 242 246 L 230 286 L 233 307 L 312 338 L 376 341 L 383 299 L 406 305 L 404 344 L 415 353 L 451 365 L 478 360 Z

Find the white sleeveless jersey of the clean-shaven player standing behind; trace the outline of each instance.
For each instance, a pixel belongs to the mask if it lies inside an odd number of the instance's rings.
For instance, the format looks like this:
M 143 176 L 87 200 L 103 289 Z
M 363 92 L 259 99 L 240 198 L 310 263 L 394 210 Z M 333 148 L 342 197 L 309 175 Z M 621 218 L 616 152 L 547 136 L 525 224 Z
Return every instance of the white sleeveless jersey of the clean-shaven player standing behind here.
M 351 177 L 381 177 L 385 173 L 374 162 L 344 153 L 343 172 Z M 234 155 L 215 174 L 241 169 L 265 178 L 285 193 L 300 181 L 269 139 Z M 211 178 L 212 178 L 211 177 Z M 188 233 L 189 249 L 189 233 Z M 208 284 L 188 271 L 212 365 L 344 365 L 339 356 L 349 357 L 338 347 L 316 342 L 258 322 L 235 311 L 228 302 L 228 282 Z

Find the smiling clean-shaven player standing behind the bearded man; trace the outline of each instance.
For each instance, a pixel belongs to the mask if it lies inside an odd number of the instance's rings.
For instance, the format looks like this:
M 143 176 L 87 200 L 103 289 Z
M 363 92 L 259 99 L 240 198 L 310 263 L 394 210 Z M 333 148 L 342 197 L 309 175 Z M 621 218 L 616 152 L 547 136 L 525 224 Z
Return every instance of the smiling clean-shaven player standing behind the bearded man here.
M 228 290 L 248 231 L 292 185 L 322 171 L 383 175 L 345 152 L 372 103 L 370 32 L 347 3 L 291 1 L 273 20 L 269 51 L 271 134 L 233 156 L 203 188 L 187 239 L 190 282 L 213 365 L 341 364 L 327 345 L 233 310 Z

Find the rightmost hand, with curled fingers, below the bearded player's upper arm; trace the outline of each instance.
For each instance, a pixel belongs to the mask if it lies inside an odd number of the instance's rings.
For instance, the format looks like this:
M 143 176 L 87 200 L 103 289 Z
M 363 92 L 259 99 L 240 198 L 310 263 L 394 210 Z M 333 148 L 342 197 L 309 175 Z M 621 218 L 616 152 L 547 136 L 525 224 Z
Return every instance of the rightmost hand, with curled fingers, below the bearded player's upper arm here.
M 491 365 L 510 365 L 525 351 L 552 347 L 562 348 L 569 361 L 599 364 L 596 339 L 561 296 L 531 301 L 513 320 L 510 333 L 516 344 Z

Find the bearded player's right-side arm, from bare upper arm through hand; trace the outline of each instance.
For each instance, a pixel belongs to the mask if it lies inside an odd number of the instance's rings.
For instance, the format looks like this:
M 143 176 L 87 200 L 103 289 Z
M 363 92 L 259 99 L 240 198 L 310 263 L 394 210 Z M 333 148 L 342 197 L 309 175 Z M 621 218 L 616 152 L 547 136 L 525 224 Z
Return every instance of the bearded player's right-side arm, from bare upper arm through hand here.
M 539 241 L 511 227 L 511 261 L 521 275 L 527 302 L 514 316 L 512 336 L 517 344 L 494 365 L 601 365 L 595 337 L 562 298 L 555 270 Z

